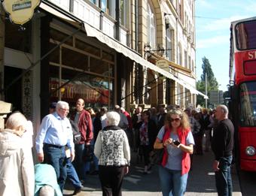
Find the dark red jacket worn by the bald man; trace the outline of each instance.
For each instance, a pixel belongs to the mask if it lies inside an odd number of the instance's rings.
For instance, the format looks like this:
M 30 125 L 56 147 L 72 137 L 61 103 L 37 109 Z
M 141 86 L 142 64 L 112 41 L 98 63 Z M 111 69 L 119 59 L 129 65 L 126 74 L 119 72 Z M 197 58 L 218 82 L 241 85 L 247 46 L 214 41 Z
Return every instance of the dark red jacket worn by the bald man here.
M 75 115 L 76 113 L 73 113 L 70 119 L 75 120 Z M 81 132 L 80 144 L 90 143 L 90 141 L 93 140 L 93 122 L 87 110 L 81 110 L 78 119 L 78 128 Z

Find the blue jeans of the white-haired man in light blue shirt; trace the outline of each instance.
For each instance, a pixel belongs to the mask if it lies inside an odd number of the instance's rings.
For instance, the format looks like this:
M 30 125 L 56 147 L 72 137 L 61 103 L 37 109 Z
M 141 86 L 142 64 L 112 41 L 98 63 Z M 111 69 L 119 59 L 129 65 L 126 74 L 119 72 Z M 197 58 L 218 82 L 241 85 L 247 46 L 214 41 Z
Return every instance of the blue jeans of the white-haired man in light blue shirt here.
M 63 191 L 67 171 L 66 171 L 66 153 L 65 146 L 56 148 L 44 145 L 44 163 L 51 164 L 56 172 L 59 188 Z

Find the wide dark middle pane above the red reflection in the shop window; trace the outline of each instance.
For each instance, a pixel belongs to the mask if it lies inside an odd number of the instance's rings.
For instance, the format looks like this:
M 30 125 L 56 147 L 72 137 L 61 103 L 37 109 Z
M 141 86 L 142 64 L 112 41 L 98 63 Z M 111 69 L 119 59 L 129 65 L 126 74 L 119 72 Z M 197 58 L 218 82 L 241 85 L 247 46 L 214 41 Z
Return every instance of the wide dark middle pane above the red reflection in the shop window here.
M 87 71 L 88 56 L 78 53 L 75 50 L 62 47 L 62 65 Z

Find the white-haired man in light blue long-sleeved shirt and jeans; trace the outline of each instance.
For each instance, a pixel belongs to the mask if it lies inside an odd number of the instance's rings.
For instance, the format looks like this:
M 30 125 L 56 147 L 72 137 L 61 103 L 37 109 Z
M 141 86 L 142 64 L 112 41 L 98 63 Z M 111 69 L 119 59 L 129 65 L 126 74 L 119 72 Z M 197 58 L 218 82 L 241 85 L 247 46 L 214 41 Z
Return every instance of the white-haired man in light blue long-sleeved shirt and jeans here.
M 68 113 L 69 104 L 58 101 L 56 112 L 44 117 L 35 139 L 38 161 L 53 166 L 62 191 L 67 176 L 65 146 L 69 147 L 72 160 L 75 158 L 72 126 L 66 117 Z

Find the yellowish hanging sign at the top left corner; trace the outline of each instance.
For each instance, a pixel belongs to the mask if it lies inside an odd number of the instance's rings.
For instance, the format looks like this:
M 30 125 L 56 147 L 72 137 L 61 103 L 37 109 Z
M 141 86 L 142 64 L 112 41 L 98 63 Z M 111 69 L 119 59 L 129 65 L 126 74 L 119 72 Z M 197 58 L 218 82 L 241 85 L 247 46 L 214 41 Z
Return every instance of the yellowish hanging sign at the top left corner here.
M 2 5 L 12 23 L 23 25 L 32 19 L 41 0 L 5 0 Z

